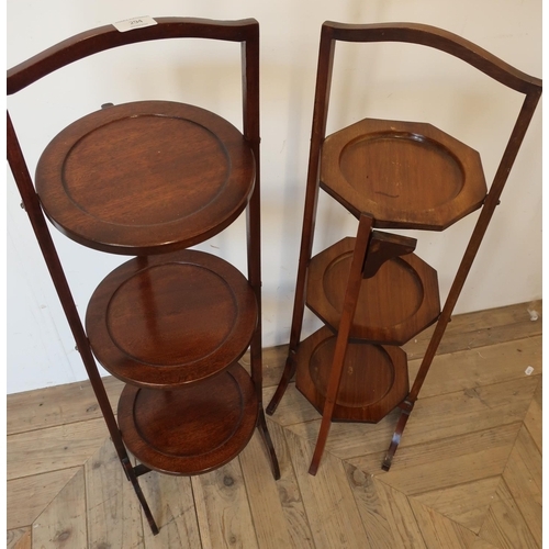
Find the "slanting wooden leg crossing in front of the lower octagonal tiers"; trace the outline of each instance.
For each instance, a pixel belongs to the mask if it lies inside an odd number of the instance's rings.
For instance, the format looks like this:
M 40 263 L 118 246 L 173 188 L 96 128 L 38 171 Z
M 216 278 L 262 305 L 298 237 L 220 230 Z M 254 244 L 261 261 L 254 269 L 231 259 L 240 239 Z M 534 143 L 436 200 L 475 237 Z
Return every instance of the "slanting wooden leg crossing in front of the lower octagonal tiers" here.
M 321 430 L 316 440 L 311 467 L 309 468 L 310 474 L 316 474 L 321 463 L 324 447 L 328 438 L 328 432 L 332 424 L 332 416 L 334 414 L 334 406 L 337 401 L 337 393 L 339 392 L 339 383 L 341 381 L 341 371 L 345 362 L 345 355 L 347 352 L 347 344 L 349 340 L 349 333 L 355 317 L 357 307 L 358 295 L 360 293 L 360 284 L 362 282 L 362 271 L 365 266 L 366 254 L 368 251 L 368 243 L 370 239 L 371 227 L 373 219 L 367 215 L 360 216 L 358 225 L 357 240 L 355 243 L 355 253 L 352 254 L 352 261 L 349 270 L 349 279 L 345 292 L 345 301 L 341 311 L 341 320 L 339 322 L 339 329 L 337 333 L 336 348 L 334 351 L 334 359 L 332 361 L 332 369 L 329 372 L 328 386 L 326 390 L 326 400 L 324 402 L 324 410 L 322 413 Z

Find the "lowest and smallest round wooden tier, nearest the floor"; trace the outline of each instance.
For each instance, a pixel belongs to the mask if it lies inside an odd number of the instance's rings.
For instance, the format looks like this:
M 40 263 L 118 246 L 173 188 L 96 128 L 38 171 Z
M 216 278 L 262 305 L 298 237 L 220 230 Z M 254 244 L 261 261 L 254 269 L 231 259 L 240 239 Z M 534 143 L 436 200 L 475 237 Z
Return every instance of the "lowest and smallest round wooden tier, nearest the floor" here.
M 172 391 L 126 385 L 119 426 L 127 449 L 145 466 L 169 474 L 198 474 L 235 458 L 257 423 L 258 401 L 239 365 L 209 383 Z

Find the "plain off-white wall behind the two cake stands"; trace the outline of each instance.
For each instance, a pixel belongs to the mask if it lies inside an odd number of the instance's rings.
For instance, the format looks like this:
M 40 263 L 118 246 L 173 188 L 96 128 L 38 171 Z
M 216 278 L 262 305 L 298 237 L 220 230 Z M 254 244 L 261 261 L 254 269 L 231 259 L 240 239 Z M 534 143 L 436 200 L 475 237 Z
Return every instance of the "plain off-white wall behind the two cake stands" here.
M 80 31 L 134 15 L 254 16 L 261 25 L 264 345 L 288 341 L 299 254 L 312 102 L 323 21 L 414 21 L 458 33 L 541 76 L 541 0 L 9 0 L 8 66 Z M 457 60 L 418 46 L 339 45 L 330 131 L 365 116 L 434 123 L 480 150 L 491 180 L 519 107 Z M 108 66 L 103 61 L 112 59 Z M 233 44 L 161 43 L 101 54 L 9 98 L 31 171 L 47 142 L 102 103 L 169 99 L 216 111 L 240 126 L 239 55 Z M 221 80 L 221 81 L 220 81 Z M 474 311 L 541 296 L 541 109 L 513 169 L 458 303 Z M 8 175 L 8 393 L 82 380 L 74 348 L 20 198 Z M 442 296 L 477 215 L 442 234 L 414 233 L 439 272 Z M 315 248 L 354 234 L 356 222 L 321 200 Z M 54 233 L 82 315 L 97 283 L 123 258 Z M 244 269 L 244 225 L 201 247 Z M 305 332 L 316 325 L 307 316 Z

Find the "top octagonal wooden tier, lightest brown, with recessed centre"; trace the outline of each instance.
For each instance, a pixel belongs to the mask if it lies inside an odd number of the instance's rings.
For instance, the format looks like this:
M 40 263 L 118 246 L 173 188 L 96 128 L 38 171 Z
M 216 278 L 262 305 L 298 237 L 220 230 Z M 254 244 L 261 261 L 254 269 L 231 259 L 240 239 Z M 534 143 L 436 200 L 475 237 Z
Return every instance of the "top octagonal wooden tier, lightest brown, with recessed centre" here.
M 480 208 L 479 153 L 430 124 L 365 119 L 326 137 L 321 186 L 377 227 L 442 231 Z

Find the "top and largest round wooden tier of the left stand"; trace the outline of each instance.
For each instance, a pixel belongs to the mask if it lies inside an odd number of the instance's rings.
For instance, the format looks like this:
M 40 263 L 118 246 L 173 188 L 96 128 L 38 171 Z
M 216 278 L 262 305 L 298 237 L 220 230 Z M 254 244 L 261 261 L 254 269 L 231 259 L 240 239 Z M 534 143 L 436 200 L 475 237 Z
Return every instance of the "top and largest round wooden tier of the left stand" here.
M 192 246 L 244 210 L 255 161 L 240 132 L 182 103 L 139 101 L 63 130 L 36 168 L 46 215 L 74 240 L 114 254 Z

